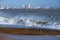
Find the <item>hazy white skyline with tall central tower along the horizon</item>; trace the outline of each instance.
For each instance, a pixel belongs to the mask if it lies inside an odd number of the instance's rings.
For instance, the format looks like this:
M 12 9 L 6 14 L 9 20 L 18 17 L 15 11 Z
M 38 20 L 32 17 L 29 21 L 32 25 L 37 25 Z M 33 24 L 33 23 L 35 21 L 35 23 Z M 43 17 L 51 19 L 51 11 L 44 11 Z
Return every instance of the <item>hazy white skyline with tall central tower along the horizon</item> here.
M 3 6 L 0 6 L 0 9 L 60 9 L 60 8 L 56 8 L 56 7 L 49 7 L 49 6 L 47 6 L 47 7 L 32 7 L 31 5 L 30 5 L 30 3 L 29 4 L 27 4 L 27 5 L 22 5 L 21 7 L 19 7 L 19 8 L 12 8 L 12 7 L 3 7 Z

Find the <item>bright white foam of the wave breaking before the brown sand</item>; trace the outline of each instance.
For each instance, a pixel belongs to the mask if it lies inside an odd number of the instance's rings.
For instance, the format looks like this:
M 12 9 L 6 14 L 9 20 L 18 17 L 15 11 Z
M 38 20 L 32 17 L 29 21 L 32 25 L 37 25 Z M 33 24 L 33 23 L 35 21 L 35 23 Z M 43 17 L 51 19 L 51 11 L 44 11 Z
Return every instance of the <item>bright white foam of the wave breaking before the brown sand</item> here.
M 36 18 L 36 16 L 35 16 Z M 5 18 L 5 17 L 2 17 L 0 16 L 0 24 L 1 25 L 19 25 L 20 26 L 23 26 L 26 27 L 26 26 L 29 26 L 29 27 L 37 27 L 37 28 L 51 28 L 51 29 L 60 29 L 60 24 L 59 23 L 53 23 L 53 22 L 47 22 L 46 24 L 36 24 L 36 21 L 33 16 L 31 17 L 24 17 L 24 16 L 15 16 L 13 18 Z M 45 20 L 39 20 L 39 21 L 45 21 Z M 0 26 L 1 26 L 0 25 Z M 17 26 L 16 26 L 17 28 Z

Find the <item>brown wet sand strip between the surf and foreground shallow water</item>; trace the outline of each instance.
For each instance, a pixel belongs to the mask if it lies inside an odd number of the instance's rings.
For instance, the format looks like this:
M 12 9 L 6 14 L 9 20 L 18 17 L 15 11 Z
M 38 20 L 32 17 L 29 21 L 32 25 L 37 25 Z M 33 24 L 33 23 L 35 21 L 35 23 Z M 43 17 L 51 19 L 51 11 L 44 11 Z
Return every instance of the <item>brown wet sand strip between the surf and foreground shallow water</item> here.
M 37 28 L 0 28 L 0 33 L 14 35 L 60 35 L 60 30 Z

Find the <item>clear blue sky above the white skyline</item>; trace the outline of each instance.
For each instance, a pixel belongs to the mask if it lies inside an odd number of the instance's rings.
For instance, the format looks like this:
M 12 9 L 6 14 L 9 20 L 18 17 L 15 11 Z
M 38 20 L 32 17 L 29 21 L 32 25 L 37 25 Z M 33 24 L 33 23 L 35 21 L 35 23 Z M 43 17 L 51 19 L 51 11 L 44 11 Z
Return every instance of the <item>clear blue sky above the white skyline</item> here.
M 60 0 L 0 0 L 0 5 L 9 7 L 21 7 L 29 3 L 33 7 L 60 7 Z

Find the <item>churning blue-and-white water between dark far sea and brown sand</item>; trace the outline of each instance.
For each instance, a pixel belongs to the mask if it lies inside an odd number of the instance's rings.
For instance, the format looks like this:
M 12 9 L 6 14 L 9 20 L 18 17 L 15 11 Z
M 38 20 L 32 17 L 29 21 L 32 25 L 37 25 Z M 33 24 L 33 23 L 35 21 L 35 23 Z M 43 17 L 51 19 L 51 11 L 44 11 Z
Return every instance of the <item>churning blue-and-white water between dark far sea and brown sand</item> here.
M 35 25 L 33 22 L 47 21 L 45 25 Z M 50 13 L 12 13 L 12 12 L 0 12 L 0 26 L 1 27 L 40 27 L 40 28 L 52 28 L 60 29 L 60 12 Z

